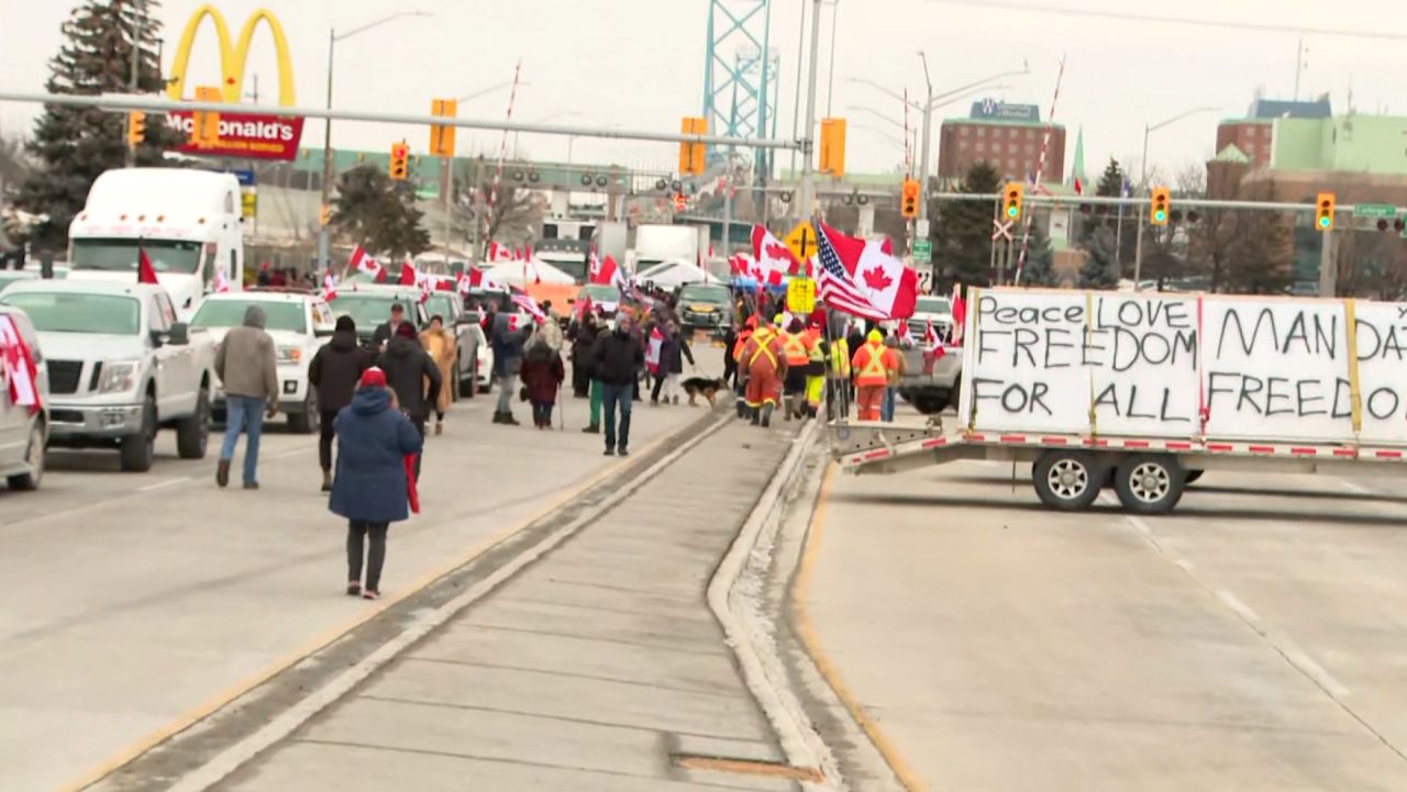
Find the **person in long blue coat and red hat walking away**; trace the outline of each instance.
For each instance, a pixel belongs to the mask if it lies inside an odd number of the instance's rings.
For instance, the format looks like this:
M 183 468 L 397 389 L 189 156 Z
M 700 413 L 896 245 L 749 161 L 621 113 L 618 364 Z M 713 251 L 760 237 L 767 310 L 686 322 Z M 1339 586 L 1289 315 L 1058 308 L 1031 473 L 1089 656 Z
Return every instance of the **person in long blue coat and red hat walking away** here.
M 328 509 L 348 518 L 348 595 L 381 596 L 386 532 L 409 518 L 405 456 L 421 453 L 425 440 L 409 418 L 395 409 L 386 373 L 371 367 L 352 404 L 336 422 L 338 474 Z M 362 542 L 370 537 L 366 587 L 362 587 Z

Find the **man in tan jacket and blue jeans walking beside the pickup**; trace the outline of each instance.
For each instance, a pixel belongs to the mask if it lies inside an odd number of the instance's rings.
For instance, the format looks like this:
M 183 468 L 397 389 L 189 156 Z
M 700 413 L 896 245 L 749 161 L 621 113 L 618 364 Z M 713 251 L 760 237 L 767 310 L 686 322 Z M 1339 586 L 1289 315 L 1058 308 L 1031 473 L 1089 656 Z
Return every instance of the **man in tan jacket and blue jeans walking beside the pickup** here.
M 215 484 L 229 484 L 229 461 L 235 456 L 239 433 L 245 442 L 245 490 L 259 488 L 259 439 L 263 419 L 279 414 L 279 371 L 274 366 L 273 336 L 263 329 L 265 312 L 259 305 L 245 308 L 245 322 L 225 333 L 215 353 L 215 376 L 225 387 L 225 442 L 219 447 Z

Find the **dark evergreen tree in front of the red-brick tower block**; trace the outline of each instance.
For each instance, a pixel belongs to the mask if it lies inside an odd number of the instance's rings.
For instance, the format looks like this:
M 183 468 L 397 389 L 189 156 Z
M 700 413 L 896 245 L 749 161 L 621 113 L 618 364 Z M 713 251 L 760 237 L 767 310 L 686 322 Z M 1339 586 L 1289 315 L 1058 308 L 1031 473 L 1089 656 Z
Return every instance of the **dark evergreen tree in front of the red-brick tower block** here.
M 988 162 L 976 162 L 958 186 L 960 193 L 998 193 L 1002 177 Z M 938 288 L 992 283 L 992 207 L 986 201 L 948 201 L 929 207 L 933 224 L 933 267 Z

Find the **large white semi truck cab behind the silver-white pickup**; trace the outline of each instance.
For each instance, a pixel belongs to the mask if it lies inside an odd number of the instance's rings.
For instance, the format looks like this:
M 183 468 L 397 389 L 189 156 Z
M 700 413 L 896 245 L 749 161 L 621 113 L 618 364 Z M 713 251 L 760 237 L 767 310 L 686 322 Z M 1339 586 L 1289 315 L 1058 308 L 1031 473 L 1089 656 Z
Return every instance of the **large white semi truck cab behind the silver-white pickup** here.
M 215 291 L 243 284 L 245 246 L 239 181 L 229 173 L 176 167 L 124 167 L 93 181 L 69 225 L 72 280 L 136 280 L 138 248 L 189 319 Z

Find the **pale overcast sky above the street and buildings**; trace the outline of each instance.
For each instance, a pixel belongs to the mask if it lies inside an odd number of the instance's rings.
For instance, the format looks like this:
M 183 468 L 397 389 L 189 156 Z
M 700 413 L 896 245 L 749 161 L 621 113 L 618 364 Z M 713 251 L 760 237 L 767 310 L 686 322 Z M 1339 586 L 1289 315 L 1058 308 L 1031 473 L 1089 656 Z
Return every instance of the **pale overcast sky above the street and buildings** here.
M 1012 0 L 1031 7 L 1062 10 L 1034 13 L 982 8 L 943 0 L 839 0 L 834 51 L 833 113 L 850 118 L 850 170 L 891 170 L 902 160 L 899 132 L 871 107 L 903 120 L 902 106 L 851 79 L 868 79 L 910 94 L 923 91 L 916 52 L 926 49 L 934 90 L 961 86 L 992 73 L 1020 69 L 1031 73 L 1002 80 L 1010 87 L 991 96 L 1040 104 L 1051 111 L 1057 66 L 1067 56 L 1055 120 L 1069 128 L 1067 163 L 1074 156 L 1075 132 L 1083 129 L 1089 176 L 1110 155 L 1135 166 L 1144 124 L 1157 124 L 1185 110 L 1211 106 L 1217 111 L 1193 115 L 1154 134 L 1150 160 L 1175 170 L 1210 158 L 1220 117 L 1245 113 L 1258 86 L 1266 97 L 1289 97 L 1294 87 L 1296 35 L 1292 32 L 1225 30 L 1128 21 L 1085 15 L 1071 10 L 1126 13 L 1121 0 Z M 827 0 L 829 3 L 829 0 Z M 746 0 L 732 3 L 746 6 Z M 772 48 L 781 55 L 778 98 L 781 136 L 792 129 L 796 90 L 798 23 L 810 0 L 772 0 Z M 59 25 L 73 3 L 65 0 L 0 0 L 0 86 L 41 90 L 48 59 L 59 46 Z M 196 0 L 163 0 L 165 68 Z M 218 0 L 232 35 L 250 11 L 272 8 L 281 20 L 293 49 L 300 104 L 325 100 L 328 30 L 352 30 L 397 8 L 424 8 L 429 18 L 404 18 L 340 41 L 336 49 L 335 104 L 425 113 L 436 96 L 461 96 L 512 79 L 522 60 L 515 118 L 599 127 L 678 129 L 678 120 L 702 107 L 704 52 L 708 0 Z M 1234 23 L 1303 25 L 1307 68 L 1301 97 L 1328 91 L 1342 113 L 1352 90 L 1362 113 L 1407 114 L 1403 87 L 1403 45 L 1407 23 L 1394 17 L 1394 3 L 1383 0 L 1179 0 L 1166 15 Z M 822 14 L 822 70 L 819 114 L 827 104 L 830 8 Z M 219 82 L 218 56 L 210 25 L 191 58 L 187 91 L 194 84 Z M 1331 37 L 1316 30 L 1401 31 L 1404 39 L 1382 41 Z M 255 39 L 248 70 L 259 75 L 260 103 L 276 98 L 276 66 L 270 39 Z M 252 87 L 246 76 L 246 90 Z M 965 115 L 971 100 L 938 111 Z M 508 91 L 460 106 L 463 117 L 502 117 Z M 37 106 L 0 103 L 0 129 L 28 129 Z M 910 118 L 917 122 L 917 118 Z M 405 136 L 424 151 L 428 131 L 342 122 L 333 145 L 387 148 Z M 460 132 L 478 149 L 497 151 L 498 134 Z M 303 145 L 319 146 L 322 125 L 310 121 Z M 934 143 L 937 124 L 934 124 Z M 523 135 L 523 152 L 564 159 L 567 141 Z M 575 162 L 668 163 L 670 146 L 575 139 Z M 936 155 L 931 162 L 936 162 Z M 1047 176 L 1050 179 L 1050 176 Z

